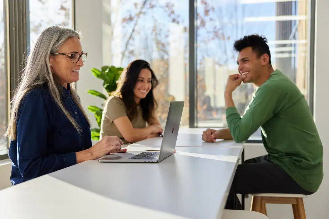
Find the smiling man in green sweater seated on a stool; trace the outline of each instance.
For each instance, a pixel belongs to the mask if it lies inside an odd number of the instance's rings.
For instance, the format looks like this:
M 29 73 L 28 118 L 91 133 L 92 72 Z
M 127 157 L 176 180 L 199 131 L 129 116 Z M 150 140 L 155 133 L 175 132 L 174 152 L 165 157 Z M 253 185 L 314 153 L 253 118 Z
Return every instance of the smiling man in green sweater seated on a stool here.
M 310 108 L 298 87 L 271 65 L 265 37 L 249 35 L 234 43 L 239 74 L 229 76 L 225 92 L 228 128 L 207 129 L 205 142 L 246 141 L 259 127 L 267 155 L 238 165 L 226 209 L 241 209 L 236 194 L 313 194 L 323 178 L 323 147 Z M 232 92 L 243 83 L 257 86 L 241 117 Z

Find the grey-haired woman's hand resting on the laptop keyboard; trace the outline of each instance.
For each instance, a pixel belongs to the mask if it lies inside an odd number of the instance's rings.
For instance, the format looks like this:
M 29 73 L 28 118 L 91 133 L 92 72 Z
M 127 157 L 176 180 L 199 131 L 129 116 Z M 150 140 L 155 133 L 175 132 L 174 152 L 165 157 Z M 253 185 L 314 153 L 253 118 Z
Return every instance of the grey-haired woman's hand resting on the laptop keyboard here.
M 105 136 L 99 142 L 90 147 L 89 150 L 94 159 L 103 157 L 110 153 L 124 153 L 127 149 L 121 149 L 123 142 L 117 136 Z

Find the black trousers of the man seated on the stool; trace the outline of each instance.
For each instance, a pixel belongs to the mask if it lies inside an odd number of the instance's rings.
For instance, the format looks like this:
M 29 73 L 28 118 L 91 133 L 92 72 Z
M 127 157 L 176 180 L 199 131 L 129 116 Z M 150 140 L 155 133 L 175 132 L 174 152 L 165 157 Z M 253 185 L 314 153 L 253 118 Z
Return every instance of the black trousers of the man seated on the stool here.
M 278 164 L 270 162 L 267 155 L 238 165 L 225 209 L 242 210 L 236 194 L 252 193 L 313 194 L 300 187 Z

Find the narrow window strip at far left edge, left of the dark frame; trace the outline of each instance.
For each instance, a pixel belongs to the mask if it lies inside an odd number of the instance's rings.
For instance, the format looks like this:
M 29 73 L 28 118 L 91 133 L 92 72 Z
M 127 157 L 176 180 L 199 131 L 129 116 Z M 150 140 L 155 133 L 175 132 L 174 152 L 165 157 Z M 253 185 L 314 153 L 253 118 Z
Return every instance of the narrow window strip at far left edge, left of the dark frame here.
M 0 150 L 7 149 L 8 140 L 4 138 L 8 123 L 7 110 L 7 68 L 6 68 L 6 24 L 4 2 L 0 0 Z

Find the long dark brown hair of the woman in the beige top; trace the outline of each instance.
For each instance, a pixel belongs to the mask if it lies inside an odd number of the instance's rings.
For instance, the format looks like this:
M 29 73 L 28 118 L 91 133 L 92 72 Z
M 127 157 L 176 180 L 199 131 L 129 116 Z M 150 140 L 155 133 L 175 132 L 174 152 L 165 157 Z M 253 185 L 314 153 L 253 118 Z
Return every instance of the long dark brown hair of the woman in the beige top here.
M 150 64 L 145 60 L 135 60 L 131 62 L 127 68 L 122 72 L 119 79 L 119 86 L 114 92 L 114 96 L 122 99 L 127 109 L 127 116 L 129 120 L 133 120 L 137 115 L 137 103 L 134 99 L 134 89 L 139 77 L 139 73 L 142 69 L 148 69 L 152 76 L 152 87 L 145 98 L 141 99 L 139 105 L 143 112 L 143 119 L 145 121 L 150 121 L 156 117 L 156 109 L 158 107 L 157 101 L 154 99 L 153 89 L 158 86 L 159 81 L 155 77 Z

